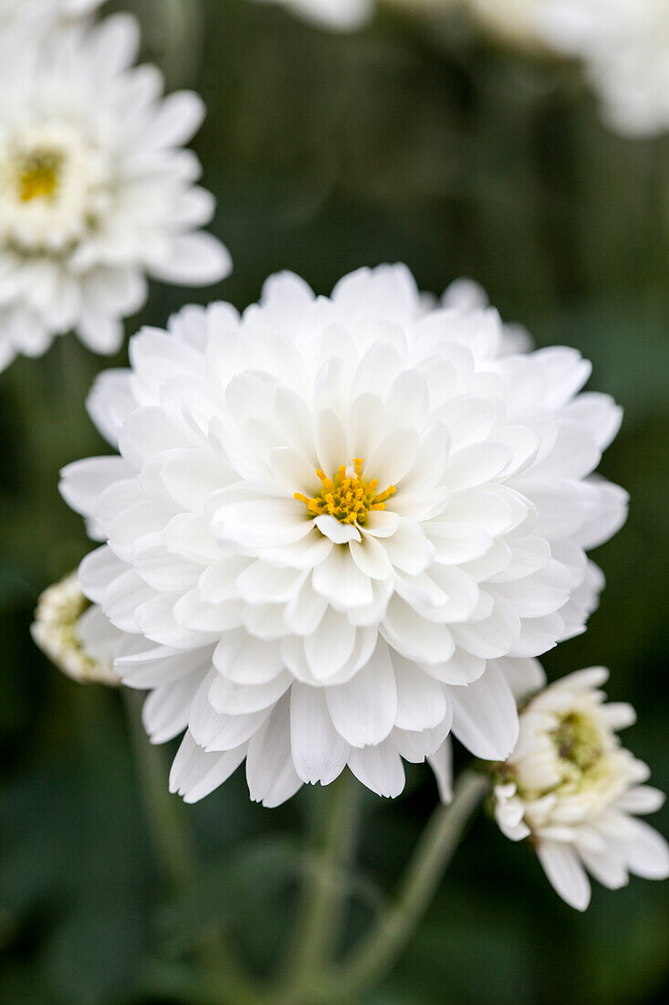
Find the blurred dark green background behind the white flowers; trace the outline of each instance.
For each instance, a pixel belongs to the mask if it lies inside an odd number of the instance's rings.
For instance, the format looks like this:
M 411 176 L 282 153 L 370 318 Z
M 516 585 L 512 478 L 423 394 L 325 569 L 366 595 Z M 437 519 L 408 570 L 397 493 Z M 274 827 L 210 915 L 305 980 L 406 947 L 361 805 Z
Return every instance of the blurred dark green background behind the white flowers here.
M 243 308 L 279 268 L 327 292 L 359 265 L 403 260 L 434 292 L 475 277 L 539 346 L 573 345 L 594 361 L 592 386 L 626 409 L 602 469 L 630 490 L 631 517 L 595 556 L 608 590 L 588 634 L 545 665 L 555 677 L 608 664 L 609 693 L 639 713 L 625 739 L 669 789 L 669 141 L 611 135 L 576 68 L 455 22 L 385 12 L 340 36 L 246 0 L 112 6 L 143 18 L 146 55 L 170 86 L 207 103 L 195 147 L 235 262 L 214 290 L 155 285 L 129 334 L 188 300 Z M 57 472 L 106 452 L 83 413 L 106 365 L 67 337 L 0 376 L 0 999 L 10 1005 L 188 1001 L 153 983 L 155 961 L 188 958 L 218 922 L 267 968 L 322 799 L 308 788 L 264 810 L 237 772 L 186 812 L 206 878 L 201 896 L 175 897 L 153 853 L 121 695 L 65 679 L 30 640 L 38 592 L 90 547 Z M 436 789 L 429 769 L 411 768 L 397 801 L 361 798 L 349 937 L 392 887 Z M 655 824 L 666 833 L 668 820 L 665 810 Z M 666 1001 L 668 936 L 667 884 L 597 887 L 582 917 L 525 846 L 481 817 L 403 960 L 361 1000 Z

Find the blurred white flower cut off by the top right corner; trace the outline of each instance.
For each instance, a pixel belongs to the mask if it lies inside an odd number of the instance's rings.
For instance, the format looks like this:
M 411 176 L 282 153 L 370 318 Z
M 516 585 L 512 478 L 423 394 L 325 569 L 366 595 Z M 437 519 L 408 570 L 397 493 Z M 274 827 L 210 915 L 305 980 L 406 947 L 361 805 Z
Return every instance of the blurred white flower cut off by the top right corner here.
M 669 129 L 666 0 L 470 0 L 486 25 L 582 59 L 612 129 Z

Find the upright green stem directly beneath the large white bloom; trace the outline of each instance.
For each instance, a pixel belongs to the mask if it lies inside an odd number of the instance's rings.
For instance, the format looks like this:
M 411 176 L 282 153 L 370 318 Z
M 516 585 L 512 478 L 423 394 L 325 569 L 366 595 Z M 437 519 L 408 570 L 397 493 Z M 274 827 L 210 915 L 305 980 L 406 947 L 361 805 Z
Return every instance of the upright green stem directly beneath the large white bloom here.
M 345 771 L 322 793 L 327 805 L 318 827 L 319 852 L 306 865 L 304 902 L 298 926 L 289 987 L 299 1000 L 336 949 L 346 898 L 343 870 L 349 864 L 356 836 L 358 785 Z M 286 999 L 287 1000 L 287 999 Z

